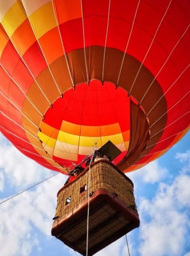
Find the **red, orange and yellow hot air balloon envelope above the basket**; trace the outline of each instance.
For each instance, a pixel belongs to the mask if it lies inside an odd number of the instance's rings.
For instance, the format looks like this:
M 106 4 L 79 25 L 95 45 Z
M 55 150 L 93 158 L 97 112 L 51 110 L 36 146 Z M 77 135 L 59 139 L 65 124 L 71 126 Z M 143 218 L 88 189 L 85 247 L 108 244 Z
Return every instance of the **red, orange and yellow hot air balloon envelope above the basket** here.
M 189 16 L 187 0 L 1 0 L 2 134 L 65 174 L 107 141 L 118 172 L 159 158 L 189 129 Z

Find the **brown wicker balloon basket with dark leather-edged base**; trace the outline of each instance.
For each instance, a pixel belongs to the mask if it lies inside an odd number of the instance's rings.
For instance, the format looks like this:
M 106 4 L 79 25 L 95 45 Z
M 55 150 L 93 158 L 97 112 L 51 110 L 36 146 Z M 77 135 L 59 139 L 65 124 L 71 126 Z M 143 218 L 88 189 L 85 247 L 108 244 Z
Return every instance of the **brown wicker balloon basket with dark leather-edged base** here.
M 59 190 L 51 230 L 82 255 L 87 251 L 87 228 L 88 255 L 93 255 L 140 225 L 132 181 L 102 159 L 91 165 L 90 175 L 90 184 L 87 168 Z

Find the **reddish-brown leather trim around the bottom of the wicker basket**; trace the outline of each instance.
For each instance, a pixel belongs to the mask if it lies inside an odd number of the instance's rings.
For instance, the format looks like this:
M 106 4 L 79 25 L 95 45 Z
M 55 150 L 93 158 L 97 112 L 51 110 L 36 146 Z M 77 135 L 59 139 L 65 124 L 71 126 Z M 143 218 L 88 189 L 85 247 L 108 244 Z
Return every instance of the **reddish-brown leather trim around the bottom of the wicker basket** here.
M 88 252 L 88 255 L 93 255 L 94 253 L 98 252 L 99 250 L 103 249 L 108 244 L 111 244 L 113 241 L 117 240 L 121 236 L 125 235 L 132 229 L 139 227 L 140 220 L 139 216 L 136 215 L 133 209 L 126 206 L 124 202 L 122 202 L 116 195 L 106 191 L 105 189 L 99 189 L 98 191 L 94 192 L 93 195 L 89 198 L 90 202 L 90 212 L 89 215 L 93 214 L 94 212 L 98 211 L 98 208 L 101 208 L 103 205 L 108 205 L 113 210 L 116 211 L 116 215 L 122 215 L 125 219 L 129 220 L 129 224 L 122 227 L 122 229 L 118 230 L 115 234 L 109 236 L 107 239 L 101 241 L 101 243 L 97 244 L 93 248 L 91 248 Z M 73 229 L 75 225 L 77 225 L 80 221 L 84 218 L 87 218 L 87 210 L 88 210 L 88 198 L 80 203 L 79 206 L 75 207 L 71 212 L 64 215 L 60 219 L 54 222 L 53 228 L 51 230 L 51 234 L 56 236 L 58 239 L 63 241 L 66 245 L 70 246 L 74 250 L 77 250 L 82 255 L 86 255 L 86 252 L 78 248 L 76 244 L 70 243 L 67 239 L 63 236 L 67 233 L 70 229 Z M 60 236 L 60 237 L 59 237 Z M 80 239 L 79 239 L 80 240 Z

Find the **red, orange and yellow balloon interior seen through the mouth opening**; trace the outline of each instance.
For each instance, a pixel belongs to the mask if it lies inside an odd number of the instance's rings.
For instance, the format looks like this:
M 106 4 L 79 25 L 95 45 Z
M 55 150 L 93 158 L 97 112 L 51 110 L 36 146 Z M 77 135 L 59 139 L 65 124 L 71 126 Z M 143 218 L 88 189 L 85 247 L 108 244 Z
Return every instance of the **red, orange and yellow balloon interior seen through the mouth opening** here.
M 111 140 L 125 155 L 130 138 L 130 97 L 110 82 L 92 80 L 68 89 L 45 112 L 38 132 L 44 150 L 63 167 L 78 164 L 93 146 Z

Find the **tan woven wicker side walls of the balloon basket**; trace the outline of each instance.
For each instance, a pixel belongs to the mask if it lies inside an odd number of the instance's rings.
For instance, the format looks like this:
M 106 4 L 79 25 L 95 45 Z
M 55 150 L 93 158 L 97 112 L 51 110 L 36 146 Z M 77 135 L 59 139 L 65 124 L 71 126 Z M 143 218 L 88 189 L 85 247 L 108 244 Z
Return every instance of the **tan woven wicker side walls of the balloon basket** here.
M 89 170 L 84 172 L 83 176 L 76 179 L 69 186 L 63 187 L 58 195 L 58 206 L 55 216 L 64 216 L 88 197 L 88 175 Z M 85 185 L 87 185 L 87 191 L 81 196 L 80 188 Z M 126 206 L 134 205 L 136 209 L 132 183 L 122 176 L 116 168 L 105 162 L 98 162 L 91 168 L 89 191 L 91 193 L 98 189 L 106 189 L 108 192 L 115 193 Z M 66 205 L 67 198 L 69 197 L 71 198 L 70 203 Z M 137 214 L 137 211 L 132 208 L 131 210 Z

